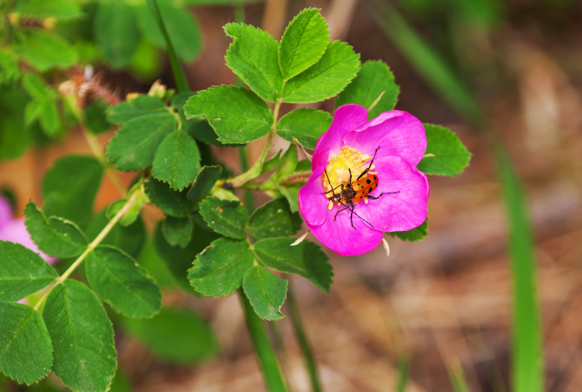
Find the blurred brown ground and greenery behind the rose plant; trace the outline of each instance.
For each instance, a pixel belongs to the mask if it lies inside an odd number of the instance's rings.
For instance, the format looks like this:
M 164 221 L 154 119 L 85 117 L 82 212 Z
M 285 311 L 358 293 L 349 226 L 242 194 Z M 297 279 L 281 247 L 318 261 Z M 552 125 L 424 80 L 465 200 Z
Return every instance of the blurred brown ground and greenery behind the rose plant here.
M 512 270 L 508 220 L 490 147 L 497 139 L 505 143 L 521 178 L 533 226 L 544 390 L 582 390 L 582 2 L 268 0 L 236 7 L 223 1 L 176 3 L 197 21 L 199 36 L 184 43 L 192 52 L 182 56 L 192 90 L 235 82 L 224 61 L 230 39 L 222 26 L 235 20 L 236 12 L 240 16 L 244 11 L 247 23 L 279 39 L 294 15 L 313 6 L 321 8 L 332 39 L 349 42 L 362 61 L 388 63 L 401 89 L 397 109 L 452 129 L 473 154 L 463 174 L 430 178 L 430 235 L 424 241 L 388 238 L 388 258 L 382 247 L 350 258 L 328 252 L 335 271 L 329 295 L 293 279 L 326 391 L 392 391 L 405 375 L 411 392 L 460 391 L 463 386 L 455 384 L 460 378 L 470 391 L 511 390 Z M 21 23 L 54 30 L 76 45 L 79 56 L 74 63 L 91 62 L 102 84 L 119 98 L 131 91 L 147 92 L 156 79 L 172 87 L 164 51 L 143 31 L 136 30 L 133 46 L 122 55 L 107 50 L 113 38 L 98 26 L 119 26 L 100 16 L 102 8 L 101 2 L 83 2 L 81 22 L 74 17 L 21 15 Z M 112 28 L 118 37 L 129 34 L 130 23 L 122 22 L 119 29 Z M 45 78 L 53 89 L 72 77 L 69 66 L 62 68 Z M 6 83 L 9 73 L 3 75 Z M 90 154 L 91 149 L 79 129 L 68 128 L 66 115 L 52 128 L 8 123 L 8 114 L 23 107 L 6 90 L 3 95 L 0 187 L 13 195 L 15 215 L 22 216 L 29 199 L 40 201 L 42 175 L 58 157 Z M 60 107 L 59 98 L 54 99 Z M 333 100 L 317 107 L 333 111 Z M 283 107 L 283 113 L 292 108 Z M 20 135 L 15 144 L 17 126 L 27 136 L 22 141 Z M 101 146 L 113 132 L 99 133 Z M 251 161 L 261 150 L 261 141 L 251 144 Z M 214 151 L 233 172 L 240 171 L 235 150 Z M 121 177 L 129 183 L 132 176 Z M 105 178 L 95 210 L 117 197 L 118 190 Z M 266 200 L 257 195 L 258 205 Z M 154 209 L 144 211 L 145 227 L 154 227 L 159 217 Z M 162 264 L 151 241 L 145 242 L 140 257 L 149 265 Z M 163 266 L 154 270 L 162 284 L 172 279 Z M 221 350 L 196 365 L 164 360 L 147 344 L 116 330 L 120 371 L 113 389 L 265 390 L 239 298 L 195 298 L 170 283 L 166 287 L 164 303 L 196 309 L 214 327 Z M 285 305 L 282 311 L 287 313 Z M 290 388 L 309 391 L 290 321 L 276 322 L 270 330 Z M 26 390 L 4 379 L 0 384 L 0 390 Z M 61 386 L 49 377 L 31 389 Z

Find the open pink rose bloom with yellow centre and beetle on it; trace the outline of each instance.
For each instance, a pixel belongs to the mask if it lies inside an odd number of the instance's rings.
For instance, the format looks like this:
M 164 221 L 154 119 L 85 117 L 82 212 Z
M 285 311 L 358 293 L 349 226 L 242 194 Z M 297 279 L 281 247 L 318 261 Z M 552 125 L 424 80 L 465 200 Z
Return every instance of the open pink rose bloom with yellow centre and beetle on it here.
M 427 147 L 423 124 L 399 110 L 367 119 L 360 105 L 336 109 L 299 190 L 307 227 L 344 256 L 370 252 L 384 232 L 410 230 L 427 218 L 430 187 L 416 168 Z

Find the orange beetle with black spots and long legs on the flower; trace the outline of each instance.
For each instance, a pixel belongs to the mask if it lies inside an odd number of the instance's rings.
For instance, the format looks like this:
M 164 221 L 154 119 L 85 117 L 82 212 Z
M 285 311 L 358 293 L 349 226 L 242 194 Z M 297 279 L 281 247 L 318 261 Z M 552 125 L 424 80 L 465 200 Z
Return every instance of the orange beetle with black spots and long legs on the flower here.
M 378 152 L 379 148 L 380 146 L 378 146 L 377 149 L 374 151 L 374 156 L 370 161 L 370 165 L 368 165 L 368 167 L 363 172 L 360 173 L 358 178 L 356 178 L 356 181 L 352 181 L 352 169 L 348 168 L 347 170 L 350 172 L 349 182 L 347 184 L 340 183 L 338 186 L 333 187 L 331 190 L 324 192 L 324 195 L 327 195 L 329 192 L 331 192 L 332 196 L 329 196 L 328 199 L 331 200 L 332 202 L 338 202 L 343 206 L 343 209 L 336 211 L 335 215 L 333 216 L 333 220 L 336 220 L 340 212 L 342 212 L 343 210 L 348 210 L 351 212 L 350 223 L 352 224 L 353 228 L 355 228 L 353 221 L 354 215 L 359 217 L 365 223 L 369 224 L 372 228 L 374 228 L 374 225 L 372 225 L 370 222 L 359 216 L 354 211 L 354 203 L 359 202 L 364 197 L 368 197 L 368 199 L 372 200 L 377 200 L 383 195 L 388 195 L 390 193 L 400 193 L 400 191 L 398 190 L 396 192 L 382 192 L 378 196 L 370 196 L 370 193 L 378 187 L 378 176 L 375 174 L 371 174 L 365 176 L 364 178 L 362 177 L 365 174 L 367 174 L 367 172 L 370 171 L 372 163 L 374 163 L 374 158 L 376 157 L 376 153 Z M 331 181 L 329 180 L 327 169 L 325 170 L 325 176 L 327 176 L 328 183 L 331 186 Z M 338 188 L 340 188 L 339 193 L 335 193 L 335 190 Z

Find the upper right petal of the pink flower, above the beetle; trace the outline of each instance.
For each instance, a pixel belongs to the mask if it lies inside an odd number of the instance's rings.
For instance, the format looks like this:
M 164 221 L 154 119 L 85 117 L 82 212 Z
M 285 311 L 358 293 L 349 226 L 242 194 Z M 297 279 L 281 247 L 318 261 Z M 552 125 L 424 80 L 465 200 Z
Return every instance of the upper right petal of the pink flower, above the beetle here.
M 364 154 L 377 158 L 402 157 L 416 166 L 427 149 L 427 135 L 423 123 L 408 112 L 393 110 L 371 119 L 356 132 L 348 133 L 343 142 Z

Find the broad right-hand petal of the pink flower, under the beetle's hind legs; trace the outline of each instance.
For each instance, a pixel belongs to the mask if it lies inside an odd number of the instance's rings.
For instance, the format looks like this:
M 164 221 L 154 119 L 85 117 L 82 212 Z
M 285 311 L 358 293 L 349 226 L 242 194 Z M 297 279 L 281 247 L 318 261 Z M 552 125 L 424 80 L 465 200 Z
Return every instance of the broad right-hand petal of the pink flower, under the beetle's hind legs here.
M 427 218 L 430 187 L 427 176 L 400 157 L 384 157 L 374 161 L 378 172 L 378 187 L 370 193 L 378 197 L 368 204 L 356 204 L 356 213 L 384 232 L 406 231 L 422 224 Z

